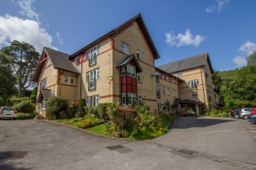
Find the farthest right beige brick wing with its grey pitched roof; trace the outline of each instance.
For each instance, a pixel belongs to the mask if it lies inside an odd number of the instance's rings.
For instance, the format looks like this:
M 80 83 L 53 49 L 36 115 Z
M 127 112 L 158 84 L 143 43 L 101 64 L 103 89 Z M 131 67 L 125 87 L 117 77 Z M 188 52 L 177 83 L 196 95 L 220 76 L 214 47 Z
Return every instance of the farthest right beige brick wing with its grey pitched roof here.
M 194 105 L 196 110 L 200 109 L 200 112 L 215 108 L 213 68 L 208 53 L 164 64 L 158 68 L 180 79 L 178 91 L 181 103 Z

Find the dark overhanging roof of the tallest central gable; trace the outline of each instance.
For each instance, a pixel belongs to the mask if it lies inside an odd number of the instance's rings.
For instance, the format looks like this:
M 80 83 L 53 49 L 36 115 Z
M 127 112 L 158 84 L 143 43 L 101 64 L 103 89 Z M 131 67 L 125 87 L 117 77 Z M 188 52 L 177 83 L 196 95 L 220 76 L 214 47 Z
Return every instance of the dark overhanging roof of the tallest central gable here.
M 154 43 L 152 41 L 151 35 L 149 35 L 149 32 L 147 31 L 147 27 L 146 27 L 146 25 L 145 25 L 145 23 L 142 19 L 142 15 L 140 13 L 138 15 L 130 18 L 128 21 L 123 22 L 123 24 L 121 24 L 120 26 L 115 27 L 113 30 L 109 31 L 108 33 L 100 36 L 98 39 L 94 40 L 93 42 L 89 43 L 88 45 L 85 45 L 83 48 L 76 51 L 74 54 L 71 54 L 69 59 L 74 58 L 76 55 L 80 54 L 81 52 L 83 52 L 85 50 L 88 50 L 91 46 L 97 45 L 99 43 L 99 41 L 104 40 L 105 38 L 109 37 L 110 35 L 114 35 L 115 33 L 118 33 L 118 31 L 121 31 L 123 28 L 128 26 L 133 21 L 138 21 L 138 25 L 142 29 L 142 32 L 145 35 L 145 38 L 147 40 L 147 43 L 148 43 L 150 49 L 152 50 L 152 54 L 154 55 L 154 59 L 159 59 L 160 56 L 157 52 L 157 48 L 156 48 L 156 46 L 154 45 Z

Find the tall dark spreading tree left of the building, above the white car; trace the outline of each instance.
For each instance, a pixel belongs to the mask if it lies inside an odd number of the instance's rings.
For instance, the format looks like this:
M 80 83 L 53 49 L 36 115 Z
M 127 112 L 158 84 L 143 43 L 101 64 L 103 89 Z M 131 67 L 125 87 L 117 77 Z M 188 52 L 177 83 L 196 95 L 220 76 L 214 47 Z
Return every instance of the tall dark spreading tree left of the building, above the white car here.
M 18 96 L 23 97 L 25 90 L 31 86 L 40 54 L 32 45 L 13 40 L 10 46 L 2 48 L 3 61 L 16 75 Z

